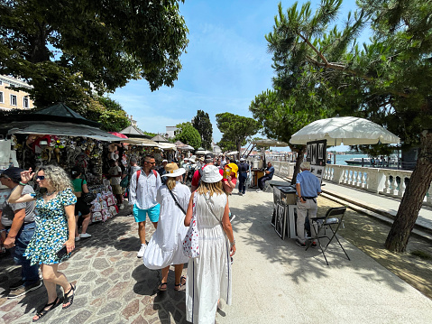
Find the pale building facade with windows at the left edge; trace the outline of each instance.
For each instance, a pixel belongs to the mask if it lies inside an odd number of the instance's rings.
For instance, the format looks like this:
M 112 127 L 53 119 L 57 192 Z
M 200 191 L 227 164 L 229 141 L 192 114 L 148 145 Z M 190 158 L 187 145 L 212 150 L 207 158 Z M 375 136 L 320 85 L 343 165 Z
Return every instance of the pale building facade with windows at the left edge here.
M 14 87 L 32 88 L 20 79 L 0 75 L 0 109 L 32 109 L 33 102 L 29 94 L 23 90 L 14 90 Z

